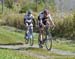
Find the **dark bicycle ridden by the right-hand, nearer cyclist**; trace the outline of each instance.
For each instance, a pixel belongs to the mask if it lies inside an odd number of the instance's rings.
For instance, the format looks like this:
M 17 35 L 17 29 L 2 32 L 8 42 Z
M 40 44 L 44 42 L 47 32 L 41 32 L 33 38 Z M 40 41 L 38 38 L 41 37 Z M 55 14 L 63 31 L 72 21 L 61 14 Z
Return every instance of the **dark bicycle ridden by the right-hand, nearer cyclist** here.
M 44 27 L 44 30 L 45 31 L 44 31 L 43 45 L 45 45 L 46 49 L 49 51 L 52 48 L 52 35 L 50 32 L 50 28 Z

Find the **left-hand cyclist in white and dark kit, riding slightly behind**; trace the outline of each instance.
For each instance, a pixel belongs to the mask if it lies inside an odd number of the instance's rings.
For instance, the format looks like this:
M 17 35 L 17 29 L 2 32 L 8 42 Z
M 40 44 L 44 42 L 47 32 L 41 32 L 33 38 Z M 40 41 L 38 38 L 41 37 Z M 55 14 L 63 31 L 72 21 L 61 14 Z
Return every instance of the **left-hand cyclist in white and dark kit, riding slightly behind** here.
M 26 40 L 29 39 L 29 36 L 28 36 L 29 27 L 28 26 L 31 26 L 31 31 L 33 32 L 33 23 L 35 24 L 34 16 L 32 15 L 32 11 L 29 10 L 24 16 L 24 24 L 26 26 L 26 34 L 25 34 Z M 26 43 L 28 43 L 28 42 L 26 42 Z

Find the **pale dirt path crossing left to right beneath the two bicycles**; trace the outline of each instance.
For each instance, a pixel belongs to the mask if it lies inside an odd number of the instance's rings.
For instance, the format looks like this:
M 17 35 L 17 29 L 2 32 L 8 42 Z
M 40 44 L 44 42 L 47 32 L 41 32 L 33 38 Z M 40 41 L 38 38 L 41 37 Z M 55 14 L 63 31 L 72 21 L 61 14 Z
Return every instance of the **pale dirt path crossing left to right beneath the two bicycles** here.
M 29 48 L 31 46 L 29 45 L 0 45 L 0 48 L 2 49 L 15 49 L 15 50 L 21 50 L 21 49 L 25 49 L 25 48 Z M 39 48 L 38 45 L 34 45 L 32 46 L 33 48 Z M 51 50 L 53 53 L 56 54 L 60 54 L 60 55 L 70 55 L 70 56 L 75 56 L 75 52 L 70 52 L 70 51 L 63 51 L 63 50 L 59 50 L 59 49 L 52 49 Z M 22 51 L 21 51 L 22 52 Z M 24 51 L 23 51 L 24 52 Z M 50 52 L 49 52 L 50 53 Z M 33 55 L 32 53 L 30 55 Z M 40 57 L 44 57 L 44 56 L 40 56 Z M 44 57 L 45 58 L 45 57 Z

